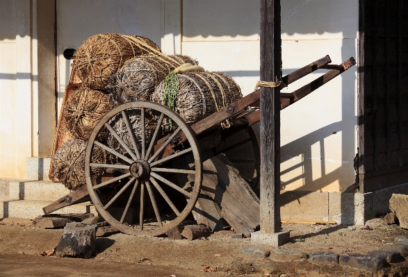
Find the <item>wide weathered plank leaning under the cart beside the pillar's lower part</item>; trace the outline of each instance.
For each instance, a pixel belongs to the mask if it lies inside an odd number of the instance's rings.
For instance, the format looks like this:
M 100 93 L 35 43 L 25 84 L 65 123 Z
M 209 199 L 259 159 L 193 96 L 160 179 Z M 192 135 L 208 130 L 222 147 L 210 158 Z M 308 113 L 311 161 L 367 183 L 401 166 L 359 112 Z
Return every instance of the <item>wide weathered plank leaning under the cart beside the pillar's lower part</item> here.
M 221 208 L 221 215 L 237 233 L 250 236 L 259 228 L 259 199 L 238 169 L 221 153 L 203 162 L 202 190 Z

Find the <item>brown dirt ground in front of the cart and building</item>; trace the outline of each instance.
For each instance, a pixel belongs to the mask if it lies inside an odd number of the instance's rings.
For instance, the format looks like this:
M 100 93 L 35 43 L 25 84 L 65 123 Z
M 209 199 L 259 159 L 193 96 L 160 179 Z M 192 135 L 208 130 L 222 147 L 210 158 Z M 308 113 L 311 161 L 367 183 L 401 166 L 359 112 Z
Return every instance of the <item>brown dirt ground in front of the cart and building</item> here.
M 284 230 L 291 231 L 291 241 L 279 248 L 307 253 L 332 251 L 339 255 L 367 253 L 392 243 L 398 235 L 408 235 L 408 230 L 396 224 L 387 225 L 383 219 L 373 219 L 364 227 L 354 227 L 355 230 L 350 230 L 342 225 L 283 224 Z M 309 262 L 270 264 L 266 269 L 261 266 L 260 259 L 240 253 L 243 246 L 250 245 L 250 238 L 233 239 L 232 230 L 213 233 L 206 240 L 193 242 L 118 233 L 98 238 L 95 257 L 91 260 L 42 257 L 40 253 L 55 248 L 62 232 L 62 229 L 35 228 L 31 221 L 22 219 L 1 221 L 1 276 L 320 276 L 316 275 L 319 267 L 307 266 Z M 140 261 L 143 258 L 149 259 Z M 206 267 L 217 271 L 204 272 Z M 277 270 L 271 271 L 272 267 Z M 333 270 L 343 275 L 343 269 Z M 314 275 L 312 271 L 316 271 Z M 354 273 L 352 276 L 361 276 L 357 271 Z M 344 272 L 344 276 L 351 275 Z

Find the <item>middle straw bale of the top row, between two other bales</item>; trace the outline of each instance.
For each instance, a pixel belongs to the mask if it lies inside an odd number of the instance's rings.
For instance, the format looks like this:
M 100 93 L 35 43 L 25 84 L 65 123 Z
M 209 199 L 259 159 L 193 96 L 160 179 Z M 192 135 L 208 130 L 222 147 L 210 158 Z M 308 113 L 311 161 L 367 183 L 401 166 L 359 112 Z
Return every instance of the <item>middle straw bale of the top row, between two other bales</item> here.
M 183 63 L 197 64 L 188 56 L 144 55 L 132 58 L 111 76 L 106 90 L 110 93 L 115 106 L 132 101 L 150 100 L 156 85 Z

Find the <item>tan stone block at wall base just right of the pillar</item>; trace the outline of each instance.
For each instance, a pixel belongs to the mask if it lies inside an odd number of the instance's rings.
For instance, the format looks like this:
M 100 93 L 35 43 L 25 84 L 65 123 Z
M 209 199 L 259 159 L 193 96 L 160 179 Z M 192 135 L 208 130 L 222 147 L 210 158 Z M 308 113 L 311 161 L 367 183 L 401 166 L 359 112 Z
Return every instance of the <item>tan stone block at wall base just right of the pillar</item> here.
M 279 203 L 281 218 L 304 220 L 327 220 L 329 210 L 328 192 L 281 191 Z M 319 205 L 316 205 L 319 203 Z

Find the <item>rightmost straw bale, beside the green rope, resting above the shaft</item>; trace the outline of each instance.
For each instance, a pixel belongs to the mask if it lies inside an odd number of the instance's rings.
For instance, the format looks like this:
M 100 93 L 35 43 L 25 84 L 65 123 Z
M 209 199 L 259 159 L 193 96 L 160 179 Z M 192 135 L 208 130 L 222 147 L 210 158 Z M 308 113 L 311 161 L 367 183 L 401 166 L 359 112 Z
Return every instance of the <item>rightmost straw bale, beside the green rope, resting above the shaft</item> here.
M 176 111 L 187 124 L 194 124 L 242 97 L 235 81 L 221 72 L 186 72 L 177 74 L 177 78 Z M 156 87 L 152 101 L 162 103 L 164 83 Z

